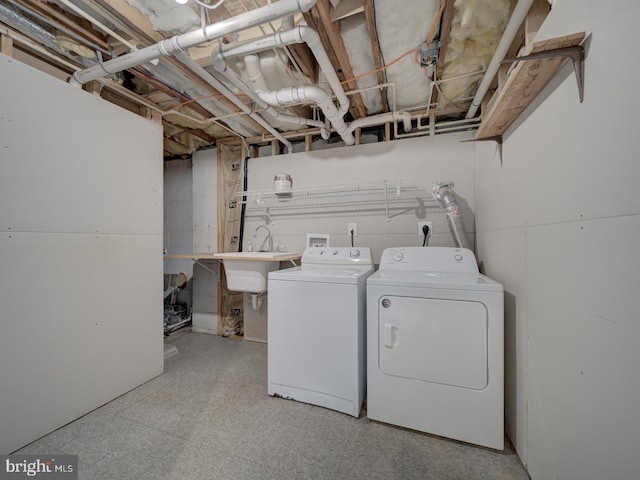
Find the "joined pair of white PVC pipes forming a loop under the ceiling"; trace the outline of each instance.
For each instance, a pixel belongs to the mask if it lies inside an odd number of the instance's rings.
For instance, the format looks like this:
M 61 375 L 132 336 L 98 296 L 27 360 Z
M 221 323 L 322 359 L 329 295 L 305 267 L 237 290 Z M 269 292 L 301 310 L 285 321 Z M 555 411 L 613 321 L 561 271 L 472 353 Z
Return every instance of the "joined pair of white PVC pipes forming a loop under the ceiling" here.
M 273 35 L 268 35 L 256 41 L 243 43 L 231 48 L 221 46 L 218 52 L 212 54 L 211 60 L 216 70 L 229 78 L 230 81 L 233 81 L 236 86 L 241 88 L 241 85 L 237 83 L 239 77 L 237 77 L 237 74 L 230 71 L 227 67 L 226 59 L 238 56 L 245 57 L 245 59 L 247 59 L 247 56 L 251 56 L 263 50 L 285 47 L 295 43 L 307 44 L 318 62 L 320 71 L 324 74 L 327 83 L 331 86 L 333 93 L 336 95 L 338 107 L 334 105 L 331 94 L 318 85 L 285 87 L 275 91 L 265 90 L 266 83 L 263 82 L 264 79 L 259 62 L 254 58 L 248 58 L 248 60 L 245 60 L 245 66 L 247 67 L 249 77 L 252 79 L 255 93 L 257 93 L 262 102 L 266 102 L 272 106 L 285 106 L 308 101 L 316 103 L 322 109 L 327 120 L 336 129 L 336 132 L 342 137 L 345 144 L 354 145 L 355 138 L 349 132 L 343 118 L 349 110 L 349 99 L 342 88 L 338 75 L 333 69 L 327 52 L 322 46 L 320 36 L 315 30 L 306 26 L 299 26 L 292 30 L 276 32 Z M 242 82 L 242 84 L 244 84 L 244 82 Z

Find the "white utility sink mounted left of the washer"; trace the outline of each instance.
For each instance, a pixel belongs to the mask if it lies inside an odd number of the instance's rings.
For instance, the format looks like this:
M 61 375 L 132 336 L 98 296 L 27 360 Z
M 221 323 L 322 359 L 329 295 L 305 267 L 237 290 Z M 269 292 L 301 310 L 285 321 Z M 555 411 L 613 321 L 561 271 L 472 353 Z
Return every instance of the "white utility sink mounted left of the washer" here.
M 262 293 L 267 291 L 269 272 L 278 270 L 280 262 L 301 256 L 295 252 L 226 252 L 213 258 L 222 260 L 229 290 Z

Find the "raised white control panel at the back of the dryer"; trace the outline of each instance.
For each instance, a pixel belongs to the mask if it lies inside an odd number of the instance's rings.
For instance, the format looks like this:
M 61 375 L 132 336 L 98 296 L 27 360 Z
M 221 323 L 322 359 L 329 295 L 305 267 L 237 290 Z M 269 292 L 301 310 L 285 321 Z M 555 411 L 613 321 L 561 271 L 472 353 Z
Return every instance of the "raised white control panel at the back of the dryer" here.
M 473 252 L 455 247 L 387 248 L 380 258 L 380 270 L 414 272 L 478 273 Z

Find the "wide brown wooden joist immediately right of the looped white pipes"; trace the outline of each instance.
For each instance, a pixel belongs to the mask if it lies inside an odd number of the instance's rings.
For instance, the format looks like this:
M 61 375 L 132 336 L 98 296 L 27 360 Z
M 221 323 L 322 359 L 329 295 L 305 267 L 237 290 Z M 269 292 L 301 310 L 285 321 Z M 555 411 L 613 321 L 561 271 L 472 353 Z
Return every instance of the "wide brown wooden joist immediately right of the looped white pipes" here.
M 340 35 L 340 25 L 337 22 L 331 21 L 331 4 L 329 0 L 318 0 L 315 6 L 304 14 L 304 18 L 307 24 L 320 35 L 322 45 L 327 51 L 340 81 L 345 82 L 353 78 L 353 69 L 349 62 L 349 55 L 347 55 L 342 36 Z M 349 80 L 346 83 L 349 90 L 356 90 L 358 88 L 355 80 Z M 356 93 L 349 98 L 351 103 L 349 111 L 353 118 L 366 117 L 367 109 L 362 101 L 362 96 Z

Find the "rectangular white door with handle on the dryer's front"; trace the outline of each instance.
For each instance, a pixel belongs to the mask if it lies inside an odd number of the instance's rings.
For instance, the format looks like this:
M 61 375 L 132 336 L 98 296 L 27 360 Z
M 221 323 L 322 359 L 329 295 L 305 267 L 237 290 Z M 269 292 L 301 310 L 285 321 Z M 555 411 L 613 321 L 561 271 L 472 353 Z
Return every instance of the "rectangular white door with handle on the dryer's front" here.
M 380 370 L 482 390 L 488 383 L 487 317 L 480 302 L 383 296 L 378 301 Z

